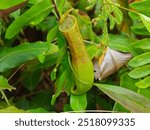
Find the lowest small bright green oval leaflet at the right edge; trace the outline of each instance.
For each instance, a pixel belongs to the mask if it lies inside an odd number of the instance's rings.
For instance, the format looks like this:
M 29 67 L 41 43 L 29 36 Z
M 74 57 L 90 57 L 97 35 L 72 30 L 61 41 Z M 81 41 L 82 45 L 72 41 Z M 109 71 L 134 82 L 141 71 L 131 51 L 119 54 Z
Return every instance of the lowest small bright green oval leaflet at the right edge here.
M 138 88 L 145 89 L 150 87 L 150 76 L 144 78 L 143 80 L 135 84 Z

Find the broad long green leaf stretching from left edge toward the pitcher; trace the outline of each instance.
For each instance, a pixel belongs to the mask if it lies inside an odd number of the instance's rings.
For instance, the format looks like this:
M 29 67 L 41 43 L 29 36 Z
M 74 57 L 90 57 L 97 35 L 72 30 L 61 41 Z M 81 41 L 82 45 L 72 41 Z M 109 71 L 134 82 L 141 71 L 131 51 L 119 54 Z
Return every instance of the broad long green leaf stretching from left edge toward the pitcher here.
M 49 49 L 49 50 L 48 50 Z M 6 48 L 0 53 L 0 72 L 17 67 L 27 61 L 33 60 L 38 55 L 47 52 L 54 54 L 58 47 L 45 42 L 24 43 L 13 48 Z

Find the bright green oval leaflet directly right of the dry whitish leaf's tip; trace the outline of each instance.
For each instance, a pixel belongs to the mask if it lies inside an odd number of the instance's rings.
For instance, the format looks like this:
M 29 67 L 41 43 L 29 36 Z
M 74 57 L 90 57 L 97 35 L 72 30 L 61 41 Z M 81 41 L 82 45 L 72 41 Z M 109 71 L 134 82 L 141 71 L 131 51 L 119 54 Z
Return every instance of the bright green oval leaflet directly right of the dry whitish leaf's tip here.
M 139 67 L 148 63 L 150 63 L 150 52 L 134 57 L 132 60 L 130 60 L 128 65 L 131 67 Z

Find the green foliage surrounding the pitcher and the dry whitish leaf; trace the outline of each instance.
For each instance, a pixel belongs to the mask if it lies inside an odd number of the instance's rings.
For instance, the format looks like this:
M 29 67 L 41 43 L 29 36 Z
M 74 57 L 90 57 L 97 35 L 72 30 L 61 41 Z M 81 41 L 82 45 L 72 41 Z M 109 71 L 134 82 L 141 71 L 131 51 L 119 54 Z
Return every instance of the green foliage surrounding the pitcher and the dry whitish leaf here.
M 74 73 L 59 31 L 59 17 L 70 8 L 91 59 L 103 46 L 132 54 L 78 96 L 70 91 Z M 149 12 L 150 0 L 1 0 L 0 112 L 150 112 Z

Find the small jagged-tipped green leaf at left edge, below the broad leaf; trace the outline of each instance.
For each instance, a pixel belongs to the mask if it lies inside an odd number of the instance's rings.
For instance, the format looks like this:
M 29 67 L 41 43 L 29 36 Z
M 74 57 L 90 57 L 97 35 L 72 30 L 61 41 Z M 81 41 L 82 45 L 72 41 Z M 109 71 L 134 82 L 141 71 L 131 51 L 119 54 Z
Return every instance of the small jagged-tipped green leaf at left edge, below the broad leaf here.
M 14 87 L 12 87 L 11 85 L 9 85 L 8 80 L 0 75 L 0 91 L 8 89 L 9 91 L 15 89 Z

